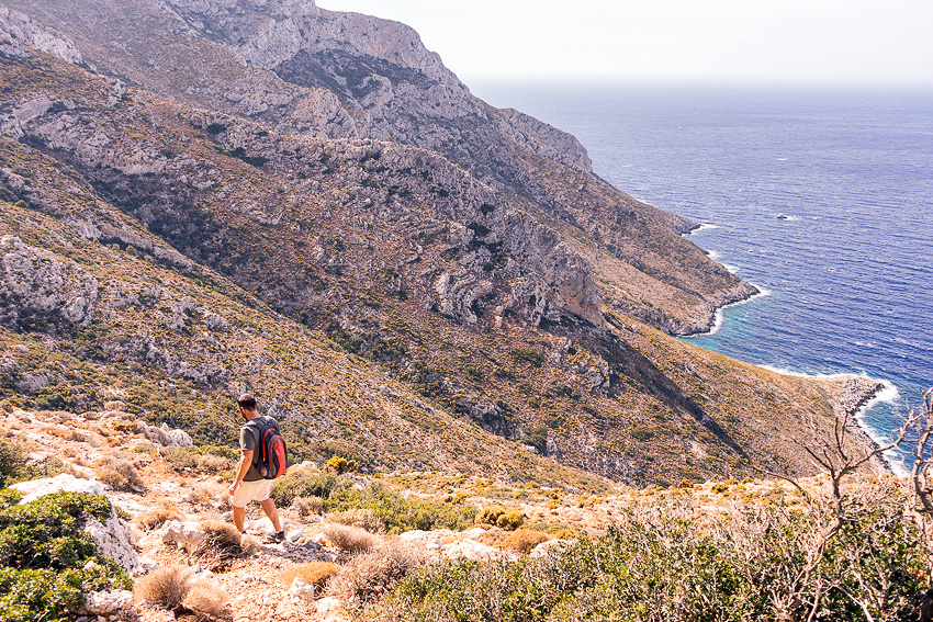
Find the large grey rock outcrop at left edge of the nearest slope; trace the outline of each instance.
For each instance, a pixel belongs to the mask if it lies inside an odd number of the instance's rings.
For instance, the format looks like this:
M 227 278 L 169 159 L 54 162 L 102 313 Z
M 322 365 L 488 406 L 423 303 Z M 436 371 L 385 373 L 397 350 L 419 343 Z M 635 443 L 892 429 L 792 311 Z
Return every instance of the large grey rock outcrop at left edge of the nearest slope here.
M 97 279 L 77 264 L 29 247 L 15 236 L 0 239 L 0 321 L 25 326 L 50 321 L 88 326 L 99 296 Z

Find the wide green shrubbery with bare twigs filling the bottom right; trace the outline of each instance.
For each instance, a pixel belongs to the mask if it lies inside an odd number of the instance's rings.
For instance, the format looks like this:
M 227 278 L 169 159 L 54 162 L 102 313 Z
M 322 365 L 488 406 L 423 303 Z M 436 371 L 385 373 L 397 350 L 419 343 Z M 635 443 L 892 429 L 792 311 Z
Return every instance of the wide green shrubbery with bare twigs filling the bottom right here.
M 707 517 L 704 529 L 686 501 L 636 506 L 602 538 L 542 557 L 423 568 L 374 613 L 398 622 L 919 620 L 933 587 L 930 542 L 904 518 L 896 487 L 846 498 L 824 547 L 816 543 L 831 504 L 750 507 Z

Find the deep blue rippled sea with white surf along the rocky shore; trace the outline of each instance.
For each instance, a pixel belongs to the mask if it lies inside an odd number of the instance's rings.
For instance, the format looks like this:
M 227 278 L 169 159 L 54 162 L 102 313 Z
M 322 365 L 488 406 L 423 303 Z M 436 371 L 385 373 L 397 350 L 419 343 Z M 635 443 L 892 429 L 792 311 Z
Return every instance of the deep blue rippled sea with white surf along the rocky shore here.
M 480 82 L 576 136 L 594 171 L 688 216 L 762 294 L 697 346 L 784 373 L 862 374 L 878 442 L 933 386 L 933 89 Z

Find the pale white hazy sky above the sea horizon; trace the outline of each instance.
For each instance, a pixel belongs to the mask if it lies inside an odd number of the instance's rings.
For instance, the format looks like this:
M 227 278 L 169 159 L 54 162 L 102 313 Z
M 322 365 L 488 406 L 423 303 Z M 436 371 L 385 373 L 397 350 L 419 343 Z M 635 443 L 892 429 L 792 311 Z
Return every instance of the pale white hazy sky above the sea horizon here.
M 319 0 L 414 26 L 460 78 L 933 84 L 933 0 Z

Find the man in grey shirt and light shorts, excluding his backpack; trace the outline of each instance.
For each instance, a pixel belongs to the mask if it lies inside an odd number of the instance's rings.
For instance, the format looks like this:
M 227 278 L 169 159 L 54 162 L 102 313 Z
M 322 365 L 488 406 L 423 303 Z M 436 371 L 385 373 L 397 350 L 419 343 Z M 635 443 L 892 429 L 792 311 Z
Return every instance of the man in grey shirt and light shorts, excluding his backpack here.
M 273 480 L 263 478 L 256 468 L 259 457 L 261 430 L 270 426 L 279 430 L 279 422 L 272 417 L 261 416 L 257 412 L 256 398 L 252 394 L 246 393 L 240 395 L 236 403 L 239 406 L 240 415 L 246 419 L 246 425 L 239 429 L 239 449 L 243 452 L 243 456 L 239 459 L 236 479 L 234 479 L 233 485 L 229 487 L 234 524 L 240 533 L 245 533 L 243 524 L 246 519 L 246 505 L 249 501 L 259 501 L 266 516 L 272 521 L 272 528 L 276 530 L 276 533 L 270 536 L 270 540 L 282 542 L 285 539 L 285 532 L 279 522 L 279 511 L 276 509 L 276 501 L 269 497 L 269 490 L 272 488 Z

